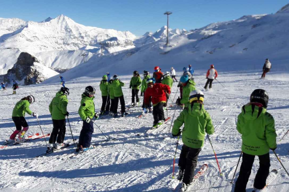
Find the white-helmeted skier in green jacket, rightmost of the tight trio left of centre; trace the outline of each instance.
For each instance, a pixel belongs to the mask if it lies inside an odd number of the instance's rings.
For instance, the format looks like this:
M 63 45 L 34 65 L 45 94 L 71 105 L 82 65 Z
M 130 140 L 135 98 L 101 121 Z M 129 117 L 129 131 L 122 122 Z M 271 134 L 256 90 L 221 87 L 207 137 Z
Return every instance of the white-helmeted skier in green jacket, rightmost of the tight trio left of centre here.
M 114 118 L 117 117 L 118 100 L 121 103 L 121 117 L 127 115 L 127 113 L 125 112 L 125 99 L 123 97 L 123 90 L 121 88 L 124 85 L 125 84 L 119 80 L 117 75 L 113 76 L 113 82 L 111 84 L 111 87 L 114 93 L 114 110 L 113 110 Z

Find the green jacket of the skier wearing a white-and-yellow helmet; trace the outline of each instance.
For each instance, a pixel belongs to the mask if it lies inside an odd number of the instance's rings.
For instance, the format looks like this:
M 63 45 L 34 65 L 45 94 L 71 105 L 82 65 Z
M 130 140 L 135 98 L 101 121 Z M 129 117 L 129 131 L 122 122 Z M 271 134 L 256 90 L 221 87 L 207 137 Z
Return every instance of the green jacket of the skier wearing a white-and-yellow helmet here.
M 185 125 L 182 131 L 182 141 L 190 148 L 201 148 L 204 144 L 205 134 L 214 133 L 211 116 L 200 103 L 193 103 L 193 107 L 189 105 L 188 109 L 180 113 L 174 121 L 172 133 L 176 135 L 183 124 Z

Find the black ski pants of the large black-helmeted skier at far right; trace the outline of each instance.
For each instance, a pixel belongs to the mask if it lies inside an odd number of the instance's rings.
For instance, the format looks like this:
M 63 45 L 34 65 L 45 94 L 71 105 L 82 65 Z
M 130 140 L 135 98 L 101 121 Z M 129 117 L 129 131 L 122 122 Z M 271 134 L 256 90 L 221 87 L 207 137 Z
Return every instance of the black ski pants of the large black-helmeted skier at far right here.
M 263 189 L 266 185 L 266 179 L 269 175 L 270 156 L 269 153 L 265 155 L 258 155 L 259 169 L 255 176 L 254 187 L 256 189 Z M 235 192 L 246 192 L 247 182 L 249 180 L 255 155 L 249 155 L 243 152 L 242 164 L 240 173 L 235 185 Z

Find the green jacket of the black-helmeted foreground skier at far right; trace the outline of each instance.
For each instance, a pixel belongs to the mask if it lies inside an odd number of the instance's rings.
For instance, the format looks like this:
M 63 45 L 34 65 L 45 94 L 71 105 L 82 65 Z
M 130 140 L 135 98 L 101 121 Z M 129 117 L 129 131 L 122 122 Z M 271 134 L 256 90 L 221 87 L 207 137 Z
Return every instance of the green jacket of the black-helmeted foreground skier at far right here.
M 264 155 L 276 148 L 275 121 L 265 108 L 248 103 L 238 116 L 237 130 L 242 134 L 242 151 L 250 155 Z

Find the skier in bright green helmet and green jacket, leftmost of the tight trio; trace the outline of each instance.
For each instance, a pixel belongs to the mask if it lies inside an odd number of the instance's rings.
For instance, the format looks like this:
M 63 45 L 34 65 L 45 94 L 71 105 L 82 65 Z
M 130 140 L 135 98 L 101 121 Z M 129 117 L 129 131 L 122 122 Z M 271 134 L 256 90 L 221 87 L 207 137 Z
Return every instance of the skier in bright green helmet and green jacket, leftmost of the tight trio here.
M 102 76 L 102 80 L 99 84 L 99 88 L 101 91 L 101 98 L 102 98 L 102 105 L 100 109 L 100 115 L 107 115 L 109 114 L 109 107 L 110 107 L 110 95 L 108 92 L 108 76 Z

